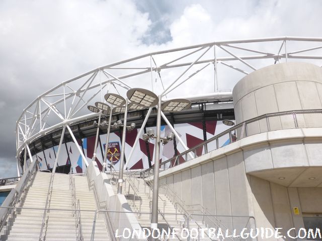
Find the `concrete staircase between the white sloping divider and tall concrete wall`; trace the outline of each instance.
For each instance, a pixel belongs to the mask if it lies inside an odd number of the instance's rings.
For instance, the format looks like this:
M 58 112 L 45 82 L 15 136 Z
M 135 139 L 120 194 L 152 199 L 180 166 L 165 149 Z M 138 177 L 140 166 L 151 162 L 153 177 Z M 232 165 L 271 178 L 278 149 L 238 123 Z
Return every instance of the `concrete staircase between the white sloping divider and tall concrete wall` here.
M 110 184 L 113 187 L 114 193 L 117 193 L 117 179 L 110 174 L 107 174 L 110 178 Z M 122 194 L 125 195 L 131 206 L 133 212 L 138 212 L 136 214 L 137 220 L 141 227 L 150 227 L 151 216 L 151 203 L 152 203 L 152 190 L 150 186 L 142 178 L 135 178 L 130 174 L 123 174 L 124 183 L 122 188 Z M 134 201 L 135 200 L 135 201 Z M 165 194 L 159 193 L 158 198 L 158 228 L 165 228 L 168 231 L 168 227 L 182 229 L 187 227 L 187 220 L 184 214 L 178 211 L 174 203 Z M 140 214 L 142 212 L 142 214 Z M 177 213 L 177 215 L 176 215 Z M 194 220 L 189 221 L 189 229 L 191 228 L 206 228 L 204 224 L 198 224 Z M 181 230 L 179 231 L 181 233 Z M 186 235 L 186 234 L 185 234 Z M 182 238 L 181 234 L 174 238 L 173 240 L 186 240 Z M 172 240 L 172 238 L 170 238 Z M 211 240 L 207 235 L 204 238 L 190 238 L 190 240 Z

